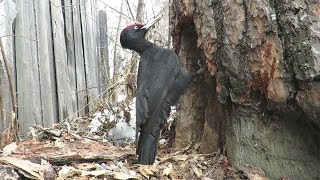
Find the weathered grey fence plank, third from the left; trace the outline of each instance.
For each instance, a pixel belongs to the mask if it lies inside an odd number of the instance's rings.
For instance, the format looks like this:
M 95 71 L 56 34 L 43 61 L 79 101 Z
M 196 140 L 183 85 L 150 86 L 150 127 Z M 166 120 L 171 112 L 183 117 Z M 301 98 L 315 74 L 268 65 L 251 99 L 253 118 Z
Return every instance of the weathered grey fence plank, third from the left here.
M 36 31 L 38 44 L 38 63 L 40 74 L 40 90 L 41 90 L 41 110 L 43 115 L 42 125 L 48 127 L 57 121 L 57 97 L 55 93 L 55 81 L 53 75 L 54 67 L 50 64 L 53 61 L 53 50 L 51 39 L 50 11 L 48 1 L 39 1 L 35 3 L 36 13 Z M 51 25 L 49 26 L 51 28 Z

